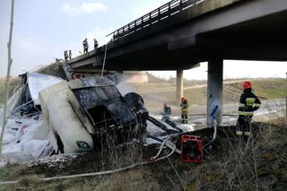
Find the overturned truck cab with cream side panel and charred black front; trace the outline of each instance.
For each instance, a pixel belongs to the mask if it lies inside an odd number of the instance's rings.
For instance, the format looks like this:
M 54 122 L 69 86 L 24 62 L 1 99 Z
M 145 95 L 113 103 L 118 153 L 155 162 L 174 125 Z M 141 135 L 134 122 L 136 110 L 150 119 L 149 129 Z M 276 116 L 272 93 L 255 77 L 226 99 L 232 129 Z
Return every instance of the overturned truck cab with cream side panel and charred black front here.
M 116 87 L 118 78 L 117 74 L 81 78 L 39 93 L 56 151 L 86 152 L 133 139 L 145 143 L 148 111 L 143 98 L 134 92 L 123 97 Z

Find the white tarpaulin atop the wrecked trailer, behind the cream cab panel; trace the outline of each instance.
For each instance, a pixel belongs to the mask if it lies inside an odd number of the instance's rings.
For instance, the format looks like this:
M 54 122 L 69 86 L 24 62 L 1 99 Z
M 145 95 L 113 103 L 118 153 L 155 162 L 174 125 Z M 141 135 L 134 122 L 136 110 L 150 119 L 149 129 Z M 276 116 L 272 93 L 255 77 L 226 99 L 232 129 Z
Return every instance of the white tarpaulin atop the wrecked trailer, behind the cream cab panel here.
M 28 83 L 29 83 L 29 90 L 30 96 L 34 101 L 35 105 L 39 105 L 39 91 L 42 91 L 48 88 L 51 85 L 56 84 L 57 82 L 62 82 L 61 78 L 45 75 L 45 74 L 38 74 L 38 73 L 28 73 Z

